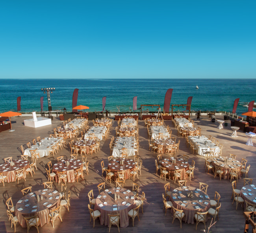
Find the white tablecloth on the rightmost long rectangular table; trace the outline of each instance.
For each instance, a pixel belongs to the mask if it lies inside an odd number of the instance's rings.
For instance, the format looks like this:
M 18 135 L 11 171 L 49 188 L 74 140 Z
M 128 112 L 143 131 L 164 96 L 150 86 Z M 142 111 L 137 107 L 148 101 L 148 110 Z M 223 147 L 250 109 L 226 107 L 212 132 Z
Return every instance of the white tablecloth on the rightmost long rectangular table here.
M 198 155 L 204 156 L 204 154 L 202 153 L 202 149 L 207 149 L 207 151 L 210 151 L 210 149 L 214 148 L 215 149 L 215 153 L 220 152 L 219 146 L 216 146 L 215 143 L 211 142 L 205 136 L 200 136 L 200 139 L 198 139 L 198 136 L 193 136 L 193 137 L 189 136 L 188 140 L 193 142 L 193 144 L 197 148 Z M 204 144 L 205 141 L 207 141 L 207 144 Z

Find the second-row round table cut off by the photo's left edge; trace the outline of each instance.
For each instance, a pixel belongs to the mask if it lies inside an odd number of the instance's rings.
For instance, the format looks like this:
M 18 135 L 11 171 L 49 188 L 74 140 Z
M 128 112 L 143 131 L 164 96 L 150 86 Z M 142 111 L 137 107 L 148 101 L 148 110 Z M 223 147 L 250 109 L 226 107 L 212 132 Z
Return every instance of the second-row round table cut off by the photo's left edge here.
M 16 172 L 22 168 L 25 168 L 25 170 L 27 168 L 29 168 L 29 161 L 24 159 L 19 159 L 19 160 L 13 160 L 12 161 L 14 163 L 13 166 L 11 166 L 10 162 L 7 163 L 1 163 L 0 164 L 0 173 L 3 173 L 3 176 L 7 176 L 7 182 L 15 182 L 16 181 Z M 26 178 L 26 172 L 24 172 L 25 178 Z

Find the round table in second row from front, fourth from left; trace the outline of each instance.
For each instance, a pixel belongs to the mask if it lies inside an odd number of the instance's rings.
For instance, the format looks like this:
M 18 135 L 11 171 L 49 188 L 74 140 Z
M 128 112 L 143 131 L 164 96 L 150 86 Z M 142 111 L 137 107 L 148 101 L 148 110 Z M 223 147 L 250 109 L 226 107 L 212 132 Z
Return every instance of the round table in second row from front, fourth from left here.
M 174 159 L 174 158 L 173 158 Z M 166 168 L 167 172 L 169 172 L 169 178 L 174 180 L 175 170 L 182 169 L 182 177 L 181 179 L 186 179 L 186 171 L 189 170 L 189 164 L 183 159 L 176 159 L 176 163 L 173 163 L 171 159 L 163 159 L 161 162 L 161 166 Z

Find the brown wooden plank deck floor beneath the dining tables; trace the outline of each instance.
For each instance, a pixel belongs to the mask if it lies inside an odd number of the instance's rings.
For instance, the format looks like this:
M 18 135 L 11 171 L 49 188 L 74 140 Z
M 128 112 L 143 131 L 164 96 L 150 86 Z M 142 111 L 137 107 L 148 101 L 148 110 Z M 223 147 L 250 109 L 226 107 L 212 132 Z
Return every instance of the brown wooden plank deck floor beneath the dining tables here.
M 12 128 L 15 129 L 14 132 L 4 131 L 0 133 L 0 159 L 4 159 L 9 156 L 19 156 L 21 153 L 19 151 L 20 145 L 26 144 L 28 141 L 32 141 L 38 136 L 46 137 L 48 134 L 52 133 L 52 129 L 59 126 L 61 121 L 55 118 L 50 126 L 44 126 L 41 128 L 28 128 L 23 124 L 23 120 L 30 117 L 15 117 L 12 118 Z M 223 117 L 222 117 L 223 118 Z M 92 123 L 90 123 L 92 125 Z M 237 155 L 237 159 L 241 161 L 242 158 L 248 160 L 247 165 L 251 165 L 249 171 L 249 178 L 255 178 L 255 166 L 256 166 L 256 147 L 247 146 L 245 142 L 247 137 L 245 133 L 237 131 L 239 137 L 230 137 L 232 130 L 230 129 L 230 124 L 224 129 L 217 129 L 218 122 L 210 123 L 208 117 L 201 118 L 201 120 L 195 119 L 195 126 L 200 126 L 202 128 L 202 135 L 207 137 L 212 135 L 216 137 L 220 143 L 223 143 L 223 155 L 228 156 L 229 153 Z M 165 121 L 165 125 L 169 125 L 173 130 L 172 136 L 176 137 L 176 130 L 173 128 L 171 121 Z M 107 226 L 100 225 L 100 221 L 97 219 L 95 221 L 95 228 L 93 228 L 93 222 L 89 222 L 89 211 L 87 208 L 88 204 L 88 192 L 93 189 L 95 195 L 98 194 L 97 185 L 105 179 L 101 176 L 101 166 L 100 162 L 104 160 L 107 162 L 107 157 L 109 156 L 109 142 L 110 138 L 115 135 L 114 127 L 117 126 L 115 121 L 113 127 L 111 128 L 108 139 L 101 142 L 101 151 L 97 154 L 89 155 L 89 176 L 85 175 L 84 180 L 80 179 L 74 183 L 67 183 L 68 190 L 71 190 L 71 207 L 70 212 L 62 210 L 61 223 L 59 220 L 54 222 L 54 229 L 51 224 L 45 224 L 43 227 L 39 227 L 39 232 L 108 232 Z M 180 139 L 180 138 L 179 138 Z M 167 215 L 165 216 L 163 211 L 162 193 L 164 192 L 164 184 L 167 182 L 171 183 L 172 189 L 176 187 L 177 183 L 174 184 L 173 181 L 164 181 L 159 178 L 159 175 L 155 173 L 155 159 L 156 154 L 148 150 L 148 137 L 147 129 L 144 127 L 144 121 L 139 121 L 139 155 L 143 160 L 143 170 L 139 180 L 135 180 L 136 183 L 141 185 L 140 194 L 142 191 L 146 194 L 146 201 L 143 206 L 144 214 L 140 211 L 140 222 L 135 219 L 134 227 L 132 227 L 132 220 L 130 219 L 130 225 L 126 228 L 121 228 L 120 232 L 196 232 L 195 224 L 182 223 L 182 229 L 180 229 L 180 224 L 178 220 L 174 220 L 172 224 L 172 217 L 170 209 L 167 210 Z M 211 228 L 214 233 L 223 232 L 243 232 L 244 228 L 244 218 L 243 209 L 241 205 L 238 206 L 236 211 L 236 205 L 232 205 L 231 195 L 232 186 L 230 180 L 219 180 L 218 178 L 213 178 L 213 174 L 205 173 L 204 159 L 198 155 L 192 155 L 185 145 L 185 139 L 180 139 L 180 151 L 178 155 L 189 155 L 189 163 L 191 160 L 195 160 L 195 175 L 194 179 L 187 182 L 187 185 L 199 187 L 199 182 L 204 182 L 209 185 L 208 195 L 210 198 L 214 198 L 215 191 L 219 192 L 221 195 L 221 211 L 219 213 L 219 221 L 215 226 Z M 58 156 L 60 155 L 70 155 L 69 148 L 62 149 Z M 57 156 L 55 156 L 57 157 Z M 167 157 L 167 155 L 166 155 Z M 6 214 L 5 200 L 8 197 L 12 197 L 14 204 L 22 197 L 21 189 L 24 187 L 32 186 L 32 191 L 42 189 L 42 183 L 47 181 L 45 173 L 45 165 L 48 161 L 54 161 L 52 156 L 44 157 L 39 159 L 38 170 L 35 175 L 31 177 L 27 176 L 26 182 L 21 181 L 19 185 L 16 182 L 5 183 L 5 187 L 0 184 L 0 193 L 2 194 L 2 201 L 0 202 L 0 232 L 14 232 L 11 228 L 11 224 L 8 221 Z M 242 177 L 244 178 L 244 176 Z M 255 184 L 256 182 L 254 182 Z M 109 182 L 107 182 L 107 187 Z M 60 185 L 54 182 L 56 189 L 60 190 Z M 243 179 L 239 180 L 237 185 L 238 189 L 243 186 Z M 113 187 L 113 184 L 111 184 Z M 132 187 L 132 180 L 128 180 L 125 185 L 126 188 Z M 210 224 L 208 221 L 207 226 Z M 197 232 L 201 232 L 203 224 L 198 225 Z M 17 224 L 16 232 L 26 233 L 27 229 L 22 228 L 19 223 Z M 30 229 L 30 232 L 36 232 L 36 229 Z M 111 232 L 118 232 L 117 227 L 111 227 Z

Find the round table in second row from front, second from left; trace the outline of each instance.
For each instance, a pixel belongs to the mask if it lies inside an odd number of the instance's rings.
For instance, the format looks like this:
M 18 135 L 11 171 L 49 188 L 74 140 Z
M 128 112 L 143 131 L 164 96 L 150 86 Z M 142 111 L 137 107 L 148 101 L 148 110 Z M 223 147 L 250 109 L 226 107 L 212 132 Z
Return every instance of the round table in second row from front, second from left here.
M 69 165 L 66 162 L 69 161 Z M 75 182 L 75 169 L 82 168 L 83 163 L 80 159 L 63 159 L 55 163 L 52 172 L 56 173 L 55 181 L 58 183 L 58 172 L 65 172 L 69 183 Z

